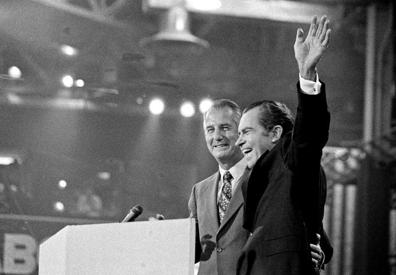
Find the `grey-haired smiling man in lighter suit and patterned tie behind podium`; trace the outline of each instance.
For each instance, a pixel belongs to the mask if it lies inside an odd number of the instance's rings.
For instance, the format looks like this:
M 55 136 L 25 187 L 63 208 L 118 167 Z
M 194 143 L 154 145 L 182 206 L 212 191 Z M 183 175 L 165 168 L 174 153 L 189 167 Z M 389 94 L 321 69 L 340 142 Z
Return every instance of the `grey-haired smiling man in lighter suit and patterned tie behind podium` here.
M 196 184 L 188 202 L 190 218 L 197 220 L 196 262 L 199 275 L 235 275 L 237 261 L 246 242 L 248 231 L 242 227 L 243 196 L 241 186 L 247 182 L 250 169 L 241 150 L 235 145 L 241 110 L 230 100 L 218 100 L 204 115 L 205 139 L 209 151 L 219 164 L 219 170 Z M 227 174 L 231 174 L 231 179 Z M 226 211 L 218 201 L 227 201 L 223 194 L 224 177 L 231 190 Z M 320 232 L 321 235 L 324 232 Z M 323 245 L 322 245 L 323 242 Z M 317 244 L 317 242 L 314 242 Z M 322 237 L 326 260 L 331 248 L 326 235 Z M 330 247 L 326 249 L 326 247 Z M 312 261 L 323 260 L 321 247 L 312 245 Z

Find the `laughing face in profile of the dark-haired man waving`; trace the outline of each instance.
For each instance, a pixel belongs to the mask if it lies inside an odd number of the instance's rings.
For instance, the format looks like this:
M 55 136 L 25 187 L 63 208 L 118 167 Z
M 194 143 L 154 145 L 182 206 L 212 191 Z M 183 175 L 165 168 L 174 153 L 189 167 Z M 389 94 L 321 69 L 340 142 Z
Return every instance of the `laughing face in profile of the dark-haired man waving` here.
M 281 134 L 280 126 L 274 127 L 276 131 L 267 131 L 260 124 L 259 118 L 260 107 L 255 107 L 245 112 L 239 123 L 239 138 L 236 145 L 241 148 L 249 168 L 253 168 L 261 155 L 275 146 L 280 138 L 277 130 L 280 130 Z

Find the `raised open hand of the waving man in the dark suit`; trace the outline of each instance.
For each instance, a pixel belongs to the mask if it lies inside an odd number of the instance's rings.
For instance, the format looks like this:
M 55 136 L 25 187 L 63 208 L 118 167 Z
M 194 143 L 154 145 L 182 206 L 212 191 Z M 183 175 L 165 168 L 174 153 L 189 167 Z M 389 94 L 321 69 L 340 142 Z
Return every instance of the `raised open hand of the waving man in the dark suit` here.
M 324 15 L 317 24 L 316 15 L 312 17 L 311 27 L 304 39 L 304 31 L 297 30 L 294 54 L 299 64 L 300 74 L 306 80 L 316 80 L 316 65 L 330 43 L 329 20 Z

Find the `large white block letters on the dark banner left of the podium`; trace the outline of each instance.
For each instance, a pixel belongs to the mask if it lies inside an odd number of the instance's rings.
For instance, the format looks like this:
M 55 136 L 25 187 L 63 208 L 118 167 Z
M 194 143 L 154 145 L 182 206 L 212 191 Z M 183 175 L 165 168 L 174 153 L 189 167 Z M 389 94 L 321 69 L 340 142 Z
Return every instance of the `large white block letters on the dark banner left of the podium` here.
M 36 241 L 30 235 L 4 234 L 3 272 L 29 275 L 36 269 Z

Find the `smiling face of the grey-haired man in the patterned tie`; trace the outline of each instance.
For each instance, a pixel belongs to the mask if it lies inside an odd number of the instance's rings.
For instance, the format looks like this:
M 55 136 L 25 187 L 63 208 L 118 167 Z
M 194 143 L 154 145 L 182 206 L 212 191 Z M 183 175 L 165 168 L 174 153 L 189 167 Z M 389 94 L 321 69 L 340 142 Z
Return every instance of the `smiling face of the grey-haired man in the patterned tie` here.
M 228 170 L 243 155 L 235 142 L 238 139 L 238 118 L 231 108 L 209 110 L 204 119 L 206 145 L 218 164 Z

